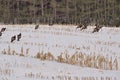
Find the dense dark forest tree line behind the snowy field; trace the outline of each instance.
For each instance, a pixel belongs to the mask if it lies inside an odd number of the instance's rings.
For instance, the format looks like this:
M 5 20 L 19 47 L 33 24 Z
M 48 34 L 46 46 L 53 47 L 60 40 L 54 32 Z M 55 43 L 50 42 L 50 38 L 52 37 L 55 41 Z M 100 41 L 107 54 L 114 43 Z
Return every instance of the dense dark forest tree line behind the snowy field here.
M 0 0 L 0 22 L 6 24 L 120 23 L 119 0 Z

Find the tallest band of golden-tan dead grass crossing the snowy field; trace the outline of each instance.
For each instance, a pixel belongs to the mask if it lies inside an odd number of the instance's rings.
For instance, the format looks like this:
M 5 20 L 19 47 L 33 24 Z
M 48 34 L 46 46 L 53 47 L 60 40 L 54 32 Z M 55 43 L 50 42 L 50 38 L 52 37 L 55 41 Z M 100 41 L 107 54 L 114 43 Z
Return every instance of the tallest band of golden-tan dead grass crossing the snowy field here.
M 85 49 L 87 49 L 85 47 Z M 25 51 L 25 52 L 24 52 Z M 20 53 L 16 52 L 15 50 L 11 50 L 11 47 L 8 46 L 8 50 L 3 50 L 3 54 L 5 55 L 17 55 L 28 57 L 29 56 L 29 48 L 23 49 L 21 47 Z M 99 54 L 83 54 L 82 52 L 75 52 L 73 55 L 69 55 L 69 52 L 65 50 L 63 53 L 60 53 L 57 58 L 51 52 L 44 53 L 38 52 L 35 58 L 40 60 L 49 60 L 49 61 L 57 61 L 60 63 L 72 64 L 72 65 L 79 65 L 80 67 L 90 67 L 96 68 L 101 70 L 118 70 L 118 58 L 110 59 L 106 56 L 99 55 Z M 105 65 L 108 64 L 108 65 Z

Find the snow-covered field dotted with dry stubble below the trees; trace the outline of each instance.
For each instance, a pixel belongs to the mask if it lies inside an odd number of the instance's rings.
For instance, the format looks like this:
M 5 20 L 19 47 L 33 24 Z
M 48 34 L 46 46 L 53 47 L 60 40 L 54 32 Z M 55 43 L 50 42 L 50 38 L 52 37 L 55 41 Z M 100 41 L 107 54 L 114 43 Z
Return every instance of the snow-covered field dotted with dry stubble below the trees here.
M 0 80 L 120 80 L 120 28 L 0 25 Z M 22 34 L 20 41 L 11 37 Z

